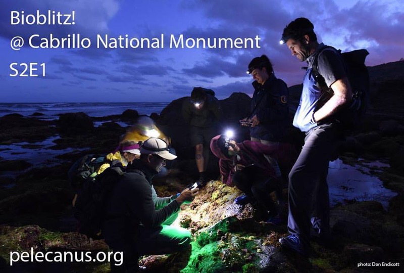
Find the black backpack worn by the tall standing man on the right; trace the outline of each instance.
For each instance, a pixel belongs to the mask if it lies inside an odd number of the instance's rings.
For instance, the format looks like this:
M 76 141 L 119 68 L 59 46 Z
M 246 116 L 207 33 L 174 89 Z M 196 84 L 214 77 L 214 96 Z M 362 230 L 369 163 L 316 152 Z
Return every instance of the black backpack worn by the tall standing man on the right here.
M 341 50 L 326 46 L 321 49 L 317 57 L 323 50 L 329 48 L 341 55 L 352 88 L 352 101 L 350 105 L 341 109 L 333 118 L 340 122 L 344 129 L 355 129 L 360 125 L 369 104 L 370 80 L 369 72 L 365 65 L 365 59 L 369 55 L 369 52 L 361 49 L 341 53 Z M 313 62 L 312 72 L 317 80 L 317 86 L 321 89 L 322 93 L 315 111 L 321 108 L 334 95 L 333 90 L 327 86 L 323 76 L 318 72 L 317 57 Z

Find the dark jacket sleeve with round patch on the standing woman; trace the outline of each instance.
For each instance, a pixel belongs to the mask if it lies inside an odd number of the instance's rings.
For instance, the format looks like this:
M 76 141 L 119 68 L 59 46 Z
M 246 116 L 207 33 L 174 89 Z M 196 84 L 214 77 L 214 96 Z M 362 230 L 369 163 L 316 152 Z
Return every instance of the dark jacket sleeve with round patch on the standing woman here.
M 276 79 L 274 86 L 267 92 L 270 93 L 266 95 L 266 105 L 263 108 L 258 107 L 257 119 L 263 124 L 286 119 L 289 112 L 289 90 L 286 83 Z

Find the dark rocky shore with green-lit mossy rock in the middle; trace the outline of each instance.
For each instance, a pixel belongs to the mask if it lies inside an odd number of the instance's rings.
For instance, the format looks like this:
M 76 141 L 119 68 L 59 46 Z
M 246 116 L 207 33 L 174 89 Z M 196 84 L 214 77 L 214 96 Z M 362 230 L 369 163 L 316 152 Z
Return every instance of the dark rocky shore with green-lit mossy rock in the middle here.
M 357 166 L 379 161 L 388 167 L 372 166 L 371 174 L 383 187 L 397 195 L 387 210 L 376 201 L 346 200 L 331 210 L 336 243 L 324 248 L 312 243 L 312 256 L 305 260 L 281 250 L 278 238 L 287 233 L 286 224 L 273 226 L 259 221 L 254 206 L 233 203 L 240 192 L 225 187 L 218 178 L 217 160 L 212 157 L 212 181 L 193 203 L 180 213 L 179 224 L 193 234 L 192 255 L 184 272 L 402 272 L 404 266 L 404 62 L 369 68 L 372 82 L 371 104 L 361 128 L 347 135 L 339 158 Z M 389 72 L 386 72 L 389 71 Z M 400 76 L 401 75 L 401 76 Z M 290 88 L 292 105 L 297 105 L 299 86 Z M 181 116 L 184 98 L 171 102 L 161 114 L 152 114 L 159 128 L 172 139 L 178 160 L 175 174 L 156 179 L 159 194 L 171 195 L 191 183 L 196 176 L 193 148 L 188 128 Z M 248 136 L 238 120 L 249 110 L 250 98 L 234 93 L 221 100 L 225 117 L 222 128 L 236 128 L 237 139 Z M 26 143 L 58 154 L 53 164 L 37 166 L 24 159 L 0 158 L 0 271 L 1 272 L 109 272 L 107 262 L 16 262 L 10 266 L 10 252 L 108 251 L 102 240 L 92 241 L 75 232 L 71 199 L 74 195 L 67 171 L 84 154 L 112 151 L 138 114 L 130 109 L 122 115 L 93 118 L 85 113 L 67 113 L 58 120 L 41 120 L 18 114 L 0 118 L 0 145 Z M 94 122 L 102 122 L 94 126 Z M 301 135 L 295 133 L 295 140 Z M 301 140 L 300 140 L 301 141 Z M 41 146 L 39 145 L 39 148 Z M 2 148 L 0 152 L 10 148 Z M 361 159 L 361 160 L 359 160 Z M 347 179 L 348 177 L 341 177 Z M 341 189 L 343 191 L 343 189 Z M 285 189 L 285 195 L 286 195 Z M 286 213 L 286 212 L 285 212 Z M 144 272 L 178 272 L 166 255 L 143 257 Z M 380 263 L 380 266 L 378 265 Z M 388 264 L 382 266 L 381 264 Z M 399 264 L 392 265 L 392 264 Z M 169 269 L 167 269 L 169 268 Z

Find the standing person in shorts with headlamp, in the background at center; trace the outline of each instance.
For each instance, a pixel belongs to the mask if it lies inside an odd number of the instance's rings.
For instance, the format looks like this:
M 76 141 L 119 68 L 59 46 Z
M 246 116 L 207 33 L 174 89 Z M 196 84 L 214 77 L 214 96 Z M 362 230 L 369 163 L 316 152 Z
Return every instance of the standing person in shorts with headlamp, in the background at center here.
M 206 169 L 209 162 L 209 144 L 215 136 L 215 127 L 221 115 L 219 101 L 211 89 L 194 87 L 191 97 L 182 104 L 182 116 L 191 125 L 191 145 L 195 146 L 196 167 L 199 172 L 196 181 L 198 188 L 203 188 L 208 182 Z

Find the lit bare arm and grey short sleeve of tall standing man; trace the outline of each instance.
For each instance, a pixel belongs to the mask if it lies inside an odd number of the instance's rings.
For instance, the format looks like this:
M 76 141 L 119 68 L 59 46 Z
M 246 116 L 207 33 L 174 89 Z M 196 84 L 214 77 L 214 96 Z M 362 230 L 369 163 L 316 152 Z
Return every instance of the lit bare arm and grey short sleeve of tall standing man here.
M 352 99 L 352 90 L 340 54 L 326 49 L 320 53 L 317 63 L 318 72 L 333 90 L 334 96 L 313 114 L 315 122 L 335 114 Z

